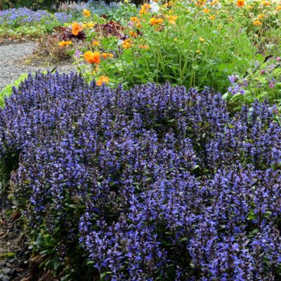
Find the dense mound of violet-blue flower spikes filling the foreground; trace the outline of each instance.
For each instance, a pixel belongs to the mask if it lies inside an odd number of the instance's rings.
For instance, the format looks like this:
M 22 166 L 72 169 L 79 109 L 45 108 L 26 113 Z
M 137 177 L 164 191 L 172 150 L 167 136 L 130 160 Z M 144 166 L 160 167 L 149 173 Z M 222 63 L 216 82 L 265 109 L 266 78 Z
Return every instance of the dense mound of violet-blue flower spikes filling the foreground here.
M 1 157 L 18 156 L 15 203 L 65 280 L 277 280 L 272 111 L 256 102 L 232 117 L 208 88 L 38 73 L 0 112 Z

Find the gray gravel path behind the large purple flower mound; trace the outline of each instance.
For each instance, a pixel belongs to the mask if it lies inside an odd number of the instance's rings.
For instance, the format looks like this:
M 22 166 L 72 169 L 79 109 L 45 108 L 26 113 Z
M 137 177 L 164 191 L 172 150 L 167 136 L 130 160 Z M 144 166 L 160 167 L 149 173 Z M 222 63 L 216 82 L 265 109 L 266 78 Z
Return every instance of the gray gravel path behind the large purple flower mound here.
M 40 65 L 26 65 L 24 59 L 27 55 L 32 55 L 36 44 L 34 42 L 18 44 L 0 44 L 0 91 L 7 84 L 13 83 L 20 74 L 26 72 L 35 72 L 37 70 L 52 70 L 57 66 L 60 72 L 70 72 L 75 70 L 74 65 L 70 63 L 60 63 L 50 67 Z

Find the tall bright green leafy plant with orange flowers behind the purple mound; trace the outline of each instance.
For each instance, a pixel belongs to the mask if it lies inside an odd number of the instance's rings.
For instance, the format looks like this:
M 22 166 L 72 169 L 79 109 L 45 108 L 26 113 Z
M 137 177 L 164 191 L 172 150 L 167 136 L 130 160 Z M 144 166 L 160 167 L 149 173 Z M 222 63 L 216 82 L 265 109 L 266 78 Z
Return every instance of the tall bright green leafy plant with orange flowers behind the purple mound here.
M 226 90 L 228 75 L 244 73 L 256 47 L 240 20 L 239 10 L 228 11 L 227 15 L 216 15 L 217 8 L 208 13 L 205 10 L 195 4 L 178 3 L 169 9 L 161 6 L 153 13 L 151 7 L 143 6 L 142 15 L 131 18 L 125 13 L 120 20 L 123 38 L 103 37 L 100 30 L 86 31 L 89 42 L 100 41 L 99 46 L 90 47 L 91 51 L 115 55 L 112 60 L 101 60 L 98 71 L 93 65 L 96 79 L 103 75 L 114 85 L 170 81 L 187 87 Z

